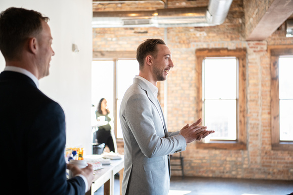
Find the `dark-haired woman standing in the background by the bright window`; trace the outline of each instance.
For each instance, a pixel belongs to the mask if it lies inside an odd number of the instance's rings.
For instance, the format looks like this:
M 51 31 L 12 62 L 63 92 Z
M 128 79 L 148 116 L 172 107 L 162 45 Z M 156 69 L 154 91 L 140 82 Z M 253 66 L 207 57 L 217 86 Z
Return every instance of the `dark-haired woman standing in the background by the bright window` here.
M 98 143 L 105 143 L 110 149 L 110 151 L 115 153 L 114 139 L 111 134 L 111 125 L 109 124 L 109 122 L 111 121 L 109 114 L 110 114 L 110 111 L 107 106 L 107 101 L 105 98 L 102 98 L 95 111 L 95 116 L 98 121 L 100 120 L 100 122 L 103 122 L 105 118 L 106 124 L 99 126 L 99 130 L 97 130 L 96 138 Z

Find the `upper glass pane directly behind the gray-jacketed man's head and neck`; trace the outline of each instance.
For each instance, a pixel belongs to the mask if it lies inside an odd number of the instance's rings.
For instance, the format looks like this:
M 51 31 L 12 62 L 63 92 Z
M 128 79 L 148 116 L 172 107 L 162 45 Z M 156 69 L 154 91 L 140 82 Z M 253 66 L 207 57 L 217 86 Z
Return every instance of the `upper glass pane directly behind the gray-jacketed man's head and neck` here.
M 122 99 L 125 91 L 133 83 L 133 78 L 139 73 L 136 60 L 117 61 L 117 99 Z

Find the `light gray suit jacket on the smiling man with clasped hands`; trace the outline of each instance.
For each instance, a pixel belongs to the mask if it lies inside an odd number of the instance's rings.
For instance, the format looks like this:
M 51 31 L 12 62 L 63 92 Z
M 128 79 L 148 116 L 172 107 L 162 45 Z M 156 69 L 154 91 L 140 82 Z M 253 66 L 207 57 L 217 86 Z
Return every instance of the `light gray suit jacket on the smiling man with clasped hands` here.
M 186 149 L 177 132 L 168 132 L 157 97 L 142 80 L 134 78 L 120 107 L 124 139 L 122 194 L 168 194 L 168 154 Z

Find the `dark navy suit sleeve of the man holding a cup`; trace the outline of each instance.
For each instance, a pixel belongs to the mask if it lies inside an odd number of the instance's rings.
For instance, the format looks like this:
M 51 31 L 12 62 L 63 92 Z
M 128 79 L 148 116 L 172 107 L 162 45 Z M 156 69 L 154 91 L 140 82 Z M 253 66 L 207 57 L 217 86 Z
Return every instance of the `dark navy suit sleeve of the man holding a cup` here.
M 27 145 L 30 194 L 84 194 L 85 183 L 81 177 L 66 178 L 66 132 L 62 108 L 56 102 L 50 102 L 35 118 L 29 129 Z

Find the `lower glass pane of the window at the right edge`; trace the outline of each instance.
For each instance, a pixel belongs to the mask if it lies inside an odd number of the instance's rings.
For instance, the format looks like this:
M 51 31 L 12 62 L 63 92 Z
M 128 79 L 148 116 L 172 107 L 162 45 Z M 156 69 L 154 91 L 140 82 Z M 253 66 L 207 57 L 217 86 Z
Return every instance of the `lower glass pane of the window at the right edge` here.
M 293 141 L 293 100 L 280 100 L 280 140 Z

